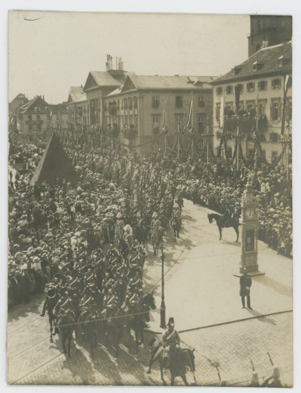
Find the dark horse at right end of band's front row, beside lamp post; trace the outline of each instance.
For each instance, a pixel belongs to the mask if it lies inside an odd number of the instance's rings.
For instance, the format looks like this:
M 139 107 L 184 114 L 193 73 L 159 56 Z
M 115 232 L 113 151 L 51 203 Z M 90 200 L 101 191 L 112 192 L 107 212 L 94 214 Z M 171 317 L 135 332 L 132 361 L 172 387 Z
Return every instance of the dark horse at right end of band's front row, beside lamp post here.
M 138 352 L 138 346 L 143 344 L 144 336 L 143 336 L 143 329 L 145 326 L 145 322 L 149 322 L 149 310 L 155 310 L 156 304 L 155 299 L 153 296 L 153 292 L 146 293 L 141 299 L 140 307 L 134 307 L 131 310 L 132 314 L 136 315 L 129 315 L 128 318 L 128 328 L 129 328 L 129 341 L 131 339 L 131 330 L 134 332 L 135 335 L 135 346 L 136 346 L 136 353 Z

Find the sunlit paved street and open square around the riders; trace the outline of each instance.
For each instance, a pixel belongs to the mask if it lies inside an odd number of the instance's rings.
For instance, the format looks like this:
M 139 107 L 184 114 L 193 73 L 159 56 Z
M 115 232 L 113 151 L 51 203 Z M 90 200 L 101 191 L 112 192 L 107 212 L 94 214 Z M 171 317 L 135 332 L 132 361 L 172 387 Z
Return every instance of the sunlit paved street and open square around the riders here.
M 260 378 L 271 373 L 272 361 L 281 381 L 292 385 L 292 261 L 258 242 L 259 269 L 253 277 L 251 306 L 241 309 L 238 271 L 240 243 L 232 228 L 219 241 L 216 223 L 209 224 L 208 209 L 185 200 L 180 239 L 165 237 L 166 318 L 174 317 L 182 346 L 196 347 L 198 385 L 248 384 L 251 360 Z M 171 235 L 171 236 L 170 236 Z M 239 239 L 240 240 L 240 239 Z M 49 342 L 48 318 L 39 317 L 42 300 L 12 310 L 8 318 L 8 381 L 15 384 L 132 384 L 161 385 L 158 364 L 146 374 L 148 341 L 160 328 L 161 252 L 153 256 L 147 245 L 145 290 L 153 290 L 156 310 L 138 354 L 124 337 L 120 355 L 99 342 L 94 359 L 84 342 L 73 340 L 71 357 L 62 353 L 61 340 Z M 271 299 L 273 300 L 271 302 Z M 213 366 L 217 364 L 218 368 Z M 193 382 L 189 372 L 188 381 Z M 166 376 L 169 381 L 169 375 Z M 176 378 L 176 384 L 183 381 Z

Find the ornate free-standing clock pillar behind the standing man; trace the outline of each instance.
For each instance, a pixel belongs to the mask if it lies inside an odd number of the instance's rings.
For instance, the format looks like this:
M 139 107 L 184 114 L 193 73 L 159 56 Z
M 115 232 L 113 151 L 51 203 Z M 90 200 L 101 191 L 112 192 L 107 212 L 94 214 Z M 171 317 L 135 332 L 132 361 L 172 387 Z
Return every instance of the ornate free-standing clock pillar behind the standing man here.
M 254 197 L 254 188 L 251 183 L 246 184 L 246 189 L 242 194 L 241 218 L 241 259 L 239 273 L 241 275 L 243 268 L 246 268 L 252 276 L 262 275 L 264 273 L 259 272 L 257 263 L 258 203 Z

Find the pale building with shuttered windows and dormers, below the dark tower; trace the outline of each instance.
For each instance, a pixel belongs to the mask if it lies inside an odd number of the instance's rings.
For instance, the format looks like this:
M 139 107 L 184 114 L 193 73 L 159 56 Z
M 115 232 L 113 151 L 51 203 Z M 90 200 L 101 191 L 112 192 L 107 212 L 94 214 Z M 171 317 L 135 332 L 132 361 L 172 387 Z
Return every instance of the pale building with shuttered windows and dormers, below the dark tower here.
M 211 82 L 214 87 L 213 130 L 216 151 L 220 143 L 218 138 L 222 97 L 224 97 L 224 128 L 227 131 L 227 154 L 230 156 L 234 151 L 234 133 L 237 125 L 235 86 L 240 84 L 238 115 L 243 135 L 241 141 L 243 155 L 250 157 L 254 149 L 250 134 L 254 127 L 255 112 L 258 112 L 262 152 L 268 162 L 277 160 L 282 149 L 280 143 L 282 117 L 285 116 L 291 121 L 291 86 L 286 90 L 283 108 L 285 77 L 291 76 L 292 71 L 291 55 L 291 42 L 263 47 L 246 61 Z

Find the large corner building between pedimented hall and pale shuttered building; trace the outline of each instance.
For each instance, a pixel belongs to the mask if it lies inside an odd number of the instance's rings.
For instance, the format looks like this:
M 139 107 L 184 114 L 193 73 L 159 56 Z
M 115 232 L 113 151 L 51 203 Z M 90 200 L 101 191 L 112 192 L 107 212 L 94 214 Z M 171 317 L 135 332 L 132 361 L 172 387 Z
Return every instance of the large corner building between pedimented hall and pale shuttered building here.
M 143 145 L 140 153 L 162 151 L 166 125 L 168 145 L 176 143 L 177 127 L 182 131 L 188 122 L 193 101 L 191 125 L 195 130 L 197 149 L 203 144 L 202 133 L 207 118 L 212 118 L 211 76 L 138 76 L 127 75 L 122 86 L 104 97 L 103 129 L 126 145 Z M 190 136 L 181 136 L 183 148 L 188 148 Z M 170 151 L 170 150 L 169 150 Z

